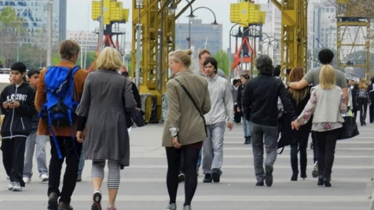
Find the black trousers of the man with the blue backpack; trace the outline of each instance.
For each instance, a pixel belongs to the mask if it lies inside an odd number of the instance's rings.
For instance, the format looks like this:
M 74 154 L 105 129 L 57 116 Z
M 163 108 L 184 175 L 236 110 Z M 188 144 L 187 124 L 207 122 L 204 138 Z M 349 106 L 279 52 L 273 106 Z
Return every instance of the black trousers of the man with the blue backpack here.
M 79 158 L 82 152 L 82 143 L 71 137 L 56 136 L 62 159 L 59 159 L 55 142 L 50 136 L 50 162 L 49 162 L 49 182 L 48 196 L 55 192 L 59 197 L 59 202 L 70 204 L 71 195 L 73 195 L 78 177 Z M 74 141 L 74 144 L 73 144 Z M 63 186 L 59 191 L 62 163 L 66 163 Z

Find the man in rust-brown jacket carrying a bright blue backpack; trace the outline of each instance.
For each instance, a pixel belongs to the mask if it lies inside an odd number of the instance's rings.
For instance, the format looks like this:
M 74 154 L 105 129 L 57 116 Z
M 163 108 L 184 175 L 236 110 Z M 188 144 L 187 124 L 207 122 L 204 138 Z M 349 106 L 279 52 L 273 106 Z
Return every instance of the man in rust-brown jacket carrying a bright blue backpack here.
M 76 114 L 88 72 L 75 66 L 80 52 L 74 40 L 60 44 L 62 61 L 40 72 L 35 106 L 39 111 L 39 135 L 49 135 L 48 206 L 50 210 L 73 210 L 71 195 L 77 180 L 82 143 L 76 139 Z M 62 164 L 66 158 L 63 186 L 59 190 Z M 58 200 L 59 198 L 59 200 Z

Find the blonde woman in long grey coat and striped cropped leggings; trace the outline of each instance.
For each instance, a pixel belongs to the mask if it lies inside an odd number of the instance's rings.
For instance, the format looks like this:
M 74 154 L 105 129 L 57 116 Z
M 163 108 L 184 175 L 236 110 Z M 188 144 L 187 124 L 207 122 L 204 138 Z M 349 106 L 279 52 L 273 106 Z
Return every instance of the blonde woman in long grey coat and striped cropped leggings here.
M 105 161 L 108 160 L 107 210 L 116 210 L 114 203 L 120 183 L 120 169 L 129 166 L 130 146 L 125 112 L 133 112 L 136 102 L 131 81 L 117 72 L 122 67 L 121 60 L 116 49 L 105 47 L 96 61 L 99 70 L 86 78 L 76 111 L 77 140 L 84 143 L 85 160 L 92 160 L 92 210 L 101 210 L 100 187 L 104 179 Z M 83 134 L 85 126 L 86 136 Z

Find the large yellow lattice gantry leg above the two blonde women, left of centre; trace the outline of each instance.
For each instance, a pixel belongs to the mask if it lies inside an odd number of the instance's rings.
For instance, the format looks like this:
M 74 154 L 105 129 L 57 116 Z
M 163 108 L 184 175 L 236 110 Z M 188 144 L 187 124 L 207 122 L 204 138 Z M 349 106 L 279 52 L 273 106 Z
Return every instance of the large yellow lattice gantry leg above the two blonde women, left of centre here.
M 162 95 L 166 92 L 166 81 L 168 80 L 168 54 L 175 50 L 175 20 L 189 7 L 184 6 L 178 14 L 169 14 L 168 6 L 173 3 L 175 7 L 182 0 L 144 0 L 140 8 L 141 24 L 141 48 L 136 49 L 137 42 L 137 24 L 139 21 L 139 7 L 136 0 L 132 0 L 132 50 L 131 67 L 132 77 L 135 78 L 136 53 L 141 50 L 141 78 L 139 92 L 148 95 L 145 100 L 145 121 L 148 123 L 152 113 L 154 122 L 161 119 L 162 116 Z M 190 0 L 193 3 L 195 0 Z M 161 20 L 161 12 L 163 13 Z M 161 24 L 161 21 L 162 24 Z M 162 25 L 162 29 L 161 29 Z M 159 30 L 162 30 L 162 88 L 158 87 L 158 52 L 159 52 Z M 153 105 L 153 106 L 152 106 Z M 153 112 L 156 109 L 156 112 Z

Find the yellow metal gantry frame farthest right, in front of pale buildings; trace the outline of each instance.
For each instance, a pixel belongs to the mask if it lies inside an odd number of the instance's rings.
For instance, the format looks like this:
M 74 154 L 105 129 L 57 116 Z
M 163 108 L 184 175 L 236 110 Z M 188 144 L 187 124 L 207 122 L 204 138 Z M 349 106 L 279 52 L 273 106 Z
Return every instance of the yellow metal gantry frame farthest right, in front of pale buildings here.
M 365 69 L 366 79 L 370 78 L 370 20 L 366 16 L 357 16 L 351 14 L 348 8 L 350 0 L 337 0 L 336 19 L 337 19 L 337 64 L 340 70 L 346 67 Z M 356 12 L 355 12 L 356 13 Z M 353 33 L 353 35 L 352 35 Z M 359 34 L 362 41 L 357 40 Z M 357 48 L 358 49 L 357 49 Z M 349 55 L 343 57 L 343 50 L 349 50 Z M 353 61 L 351 54 L 363 50 L 365 56 L 363 60 Z

